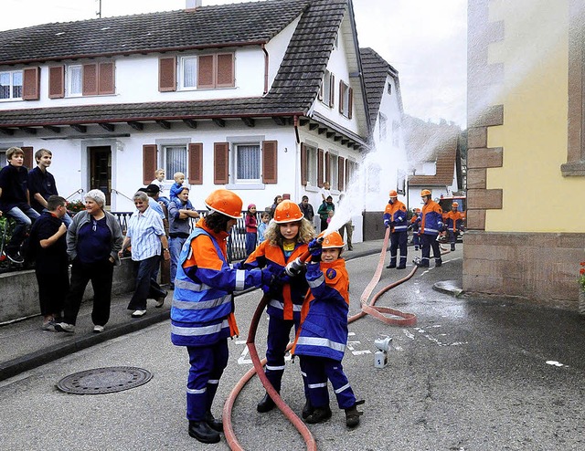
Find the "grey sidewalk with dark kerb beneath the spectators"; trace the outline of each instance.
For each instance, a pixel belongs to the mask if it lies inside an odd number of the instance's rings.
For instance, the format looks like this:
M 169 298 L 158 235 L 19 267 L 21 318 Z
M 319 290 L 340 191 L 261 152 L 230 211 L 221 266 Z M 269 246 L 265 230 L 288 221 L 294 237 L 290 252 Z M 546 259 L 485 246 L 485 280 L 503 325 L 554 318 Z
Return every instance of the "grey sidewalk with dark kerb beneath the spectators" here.
M 345 251 L 344 257 L 349 260 L 376 254 L 380 251 L 382 243 L 383 240 L 355 243 L 353 251 Z M 160 309 L 155 309 L 154 300 L 149 299 L 147 313 L 144 317 L 136 319 L 130 316 L 132 311 L 126 309 L 132 293 L 113 298 L 110 320 L 101 333 L 93 332 L 90 302 L 81 304 L 75 333 L 41 330 L 40 316 L 0 326 L 0 342 L 2 342 L 0 381 L 103 341 L 168 320 L 172 295 L 173 293 L 169 292 L 165 305 Z M 9 302 L 10 299 L 5 299 L 6 301 Z

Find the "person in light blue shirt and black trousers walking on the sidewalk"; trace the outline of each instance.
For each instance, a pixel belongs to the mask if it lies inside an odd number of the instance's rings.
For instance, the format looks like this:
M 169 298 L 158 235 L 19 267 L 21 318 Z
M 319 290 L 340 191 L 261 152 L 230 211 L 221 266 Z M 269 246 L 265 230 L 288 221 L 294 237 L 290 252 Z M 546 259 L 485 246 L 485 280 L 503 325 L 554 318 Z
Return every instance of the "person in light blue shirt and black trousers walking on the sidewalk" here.
M 140 318 L 146 313 L 146 299 L 156 299 L 156 308 L 163 307 L 166 291 L 156 282 L 154 271 L 161 259 L 161 247 L 165 260 L 170 258 L 165 226 L 161 217 L 148 205 L 148 196 L 138 192 L 133 197 L 137 212 L 128 223 L 128 230 L 122 242 L 119 256 L 123 250 L 132 245 L 132 260 L 136 284 L 129 310 L 134 310 L 132 317 Z

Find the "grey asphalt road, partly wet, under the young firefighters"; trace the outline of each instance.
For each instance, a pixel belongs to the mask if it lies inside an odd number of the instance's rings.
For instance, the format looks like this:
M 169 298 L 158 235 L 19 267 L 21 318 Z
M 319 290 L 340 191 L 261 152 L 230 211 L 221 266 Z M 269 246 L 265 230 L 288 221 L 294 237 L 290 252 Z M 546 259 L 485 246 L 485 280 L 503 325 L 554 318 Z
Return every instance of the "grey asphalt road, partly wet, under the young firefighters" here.
M 344 368 L 358 398 L 366 399 L 361 425 L 345 427 L 336 408 L 311 425 L 319 450 L 581 450 L 585 449 L 585 320 L 568 309 L 515 299 L 463 296 L 432 289 L 461 280 L 461 251 L 441 268 L 419 270 L 378 300 L 415 313 L 414 327 L 387 326 L 371 317 L 350 325 Z M 378 263 L 377 256 L 348 262 L 352 301 Z M 405 271 L 384 269 L 378 288 Z M 377 290 L 375 290 L 376 292 Z M 258 291 L 237 298 L 241 336 L 229 343 L 229 366 L 214 413 L 250 367 L 244 341 Z M 267 321 L 258 347 L 264 351 Z M 392 337 L 388 366 L 374 368 L 374 340 Z M 149 383 L 120 393 L 61 393 L 58 381 L 73 372 L 136 366 Z M 202 445 L 186 434 L 188 360 L 169 341 L 168 321 L 101 343 L 0 383 L 2 449 L 183 450 L 229 449 Z M 234 406 L 233 423 L 247 450 L 300 450 L 303 440 L 278 410 L 258 414 L 264 391 L 253 378 Z M 282 397 L 299 413 L 303 389 L 298 362 L 287 362 Z

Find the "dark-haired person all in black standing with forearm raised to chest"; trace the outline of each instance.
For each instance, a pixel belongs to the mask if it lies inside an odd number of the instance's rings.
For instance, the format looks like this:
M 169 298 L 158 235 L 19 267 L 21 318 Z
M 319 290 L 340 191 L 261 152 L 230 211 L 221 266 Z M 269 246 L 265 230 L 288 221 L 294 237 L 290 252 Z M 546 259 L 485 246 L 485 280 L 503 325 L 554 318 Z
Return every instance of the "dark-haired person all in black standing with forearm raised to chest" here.
M 35 259 L 38 301 L 43 316 L 43 330 L 54 330 L 63 309 L 63 299 L 69 291 L 69 258 L 67 257 L 67 227 L 61 220 L 67 215 L 67 201 L 50 195 L 47 211 L 35 221 L 28 240 L 29 255 Z

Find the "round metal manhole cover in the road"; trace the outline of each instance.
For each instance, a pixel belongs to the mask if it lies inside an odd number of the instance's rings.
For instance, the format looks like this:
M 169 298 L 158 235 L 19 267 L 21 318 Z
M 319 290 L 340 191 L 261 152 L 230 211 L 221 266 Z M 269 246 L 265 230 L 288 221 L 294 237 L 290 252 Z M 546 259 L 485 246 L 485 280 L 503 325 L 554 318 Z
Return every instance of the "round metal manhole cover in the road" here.
M 76 394 L 115 393 L 147 383 L 152 377 L 142 368 L 111 366 L 69 374 L 57 383 L 57 388 Z

